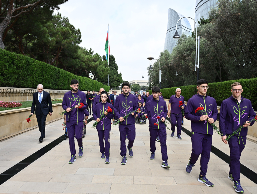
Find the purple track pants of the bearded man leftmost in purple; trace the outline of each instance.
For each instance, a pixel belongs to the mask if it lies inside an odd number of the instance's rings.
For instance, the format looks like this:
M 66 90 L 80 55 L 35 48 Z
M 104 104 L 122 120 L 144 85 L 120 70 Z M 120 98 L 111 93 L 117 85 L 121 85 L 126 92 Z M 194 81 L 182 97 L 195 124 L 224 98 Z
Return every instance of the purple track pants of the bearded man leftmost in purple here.
M 82 130 L 83 130 L 83 121 L 77 123 L 77 121 L 67 121 L 66 122 L 67 131 L 69 134 L 69 143 L 70 143 L 70 155 L 76 155 L 75 141 L 74 136 L 76 134 L 76 139 L 78 142 L 78 147 L 82 148 Z

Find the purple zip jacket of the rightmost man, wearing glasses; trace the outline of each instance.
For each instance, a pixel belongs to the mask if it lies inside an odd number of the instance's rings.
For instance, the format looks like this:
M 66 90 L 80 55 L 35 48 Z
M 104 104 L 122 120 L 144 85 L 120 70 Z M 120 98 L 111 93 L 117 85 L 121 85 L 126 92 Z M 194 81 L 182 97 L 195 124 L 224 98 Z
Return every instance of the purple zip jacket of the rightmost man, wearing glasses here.
M 251 101 L 243 98 L 243 96 L 241 97 L 240 103 L 238 103 L 237 99 L 232 95 L 221 103 L 219 112 L 219 130 L 223 135 L 230 135 L 246 121 L 250 121 L 256 116 Z M 254 122 L 251 122 L 250 126 L 253 124 Z M 247 127 L 243 127 L 238 134 L 235 134 L 235 136 L 245 136 L 247 135 L 247 131 Z

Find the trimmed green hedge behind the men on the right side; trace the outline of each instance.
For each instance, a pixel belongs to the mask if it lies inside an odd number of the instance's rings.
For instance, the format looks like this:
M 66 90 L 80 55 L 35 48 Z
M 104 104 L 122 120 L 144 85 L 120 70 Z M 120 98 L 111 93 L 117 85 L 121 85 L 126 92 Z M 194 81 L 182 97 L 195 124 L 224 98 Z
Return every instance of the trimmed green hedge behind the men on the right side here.
M 253 108 L 257 109 L 257 78 L 253 79 L 237 79 L 237 80 L 230 80 L 225 82 L 216 82 L 216 83 L 209 83 L 209 89 L 207 91 L 207 95 L 215 98 L 218 106 L 221 105 L 222 101 L 229 98 L 231 96 L 231 84 L 234 82 L 239 82 L 243 86 L 243 93 L 242 96 L 251 100 Z M 175 90 L 178 87 L 171 87 L 171 88 L 163 88 L 161 89 L 162 95 L 164 98 L 170 99 L 171 95 L 175 94 Z M 181 93 L 185 98 L 185 101 L 190 99 L 192 95 L 196 94 L 196 85 L 191 86 L 181 86 Z

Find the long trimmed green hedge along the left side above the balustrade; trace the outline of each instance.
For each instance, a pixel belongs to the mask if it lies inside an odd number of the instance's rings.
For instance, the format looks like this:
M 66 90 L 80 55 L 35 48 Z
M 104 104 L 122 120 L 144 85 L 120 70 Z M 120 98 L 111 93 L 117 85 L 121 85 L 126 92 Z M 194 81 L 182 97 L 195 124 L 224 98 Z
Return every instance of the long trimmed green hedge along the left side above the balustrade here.
M 99 91 L 109 86 L 102 83 L 74 75 L 63 69 L 51 66 L 42 61 L 0 49 L 0 86 L 36 88 L 40 83 L 45 89 L 70 90 L 70 80 L 79 81 L 82 91 Z

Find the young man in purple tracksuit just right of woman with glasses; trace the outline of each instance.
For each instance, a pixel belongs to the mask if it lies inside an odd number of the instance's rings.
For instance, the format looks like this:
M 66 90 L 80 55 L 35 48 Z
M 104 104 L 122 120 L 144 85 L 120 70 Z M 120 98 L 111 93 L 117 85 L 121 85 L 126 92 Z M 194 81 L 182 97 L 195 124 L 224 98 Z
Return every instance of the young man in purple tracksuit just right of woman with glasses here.
M 132 146 L 134 140 L 136 138 L 136 128 L 135 128 L 135 115 L 137 114 L 134 112 L 124 119 L 123 117 L 126 116 L 128 113 L 135 111 L 138 109 L 137 99 L 134 95 L 129 93 L 130 84 L 128 82 L 122 83 L 122 90 L 123 94 L 118 96 L 114 103 L 114 114 L 115 117 L 120 120 L 119 123 L 119 131 L 120 131 L 120 155 L 122 156 L 121 164 L 126 164 L 126 135 L 129 140 L 128 143 L 128 150 L 129 156 L 133 156 Z

